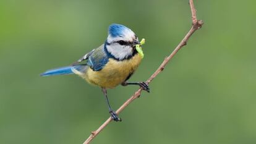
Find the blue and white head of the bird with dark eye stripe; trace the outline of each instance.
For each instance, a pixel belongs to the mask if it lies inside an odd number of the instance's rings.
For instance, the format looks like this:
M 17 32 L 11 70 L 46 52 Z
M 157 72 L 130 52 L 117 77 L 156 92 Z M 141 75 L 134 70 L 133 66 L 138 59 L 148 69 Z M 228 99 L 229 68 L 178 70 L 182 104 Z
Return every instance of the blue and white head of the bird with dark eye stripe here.
M 109 26 L 106 49 L 116 59 L 122 60 L 131 57 L 137 52 L 136 44 L 139 44 L 139 40 L 130 28 L 119 24 Z

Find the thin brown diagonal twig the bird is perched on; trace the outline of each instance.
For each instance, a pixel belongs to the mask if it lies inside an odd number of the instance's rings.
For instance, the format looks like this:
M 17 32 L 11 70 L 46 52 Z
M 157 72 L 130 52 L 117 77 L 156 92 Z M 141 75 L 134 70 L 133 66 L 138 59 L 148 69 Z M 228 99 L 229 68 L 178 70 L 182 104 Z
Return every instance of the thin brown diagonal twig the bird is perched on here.
M 154 74 L 152 74 L 151 77 L 148 78 L 147 83 L 150 83 L 156 77 L 156 75 L 158 75 L 161 71 L 163 71 L 166 64 L 168 64 L 168 62 L 173 58 L 173 56 L 177 53 L 177 51 L 179 51 L 179 49 L 181 49 L 183 46 L 185 46 L 187 44 L 187 41 L 189 40 L 190 36 L 196 30 L 198 30 L 199 28 L 202 27 L 203 21 L 197 20 L 197 15 L 196 15 L 196 10 L 194 7 L 193 0 L 189 0 L 189 4 L 190 4 L 191 13 L 192 13 L 192 28 L 190 28 L 187 35 L 184 36 L 183 40 L 177 45 L 177 47 L 174 49 L 173 53 L 171 53 L 168 57 L 166 57 L 164 59 L 164 61 L 162 62 L 162 64 L 160 65 L 160 67 L 158 67 L 158 69 L 154 72 Z M 132 95 L 124 104 L 122 104 L 122 106 L 119 109 L 117 109 L 116 113 L 119 114 L 124 108 L 126 108 L 130 103 L 132 103 L 132 101 L 134 101 L 136 98 L 139 98 L 141 92 L 142 92 L 142 88 L 137 90 L 134 93 L 134 95 Z M 98 135 L 98 133 L 100 133 L 101 130 L 103 130 L 106 127 L 106 125 L 108 125 L 109 122 L 111 122 L 111 121 L 112 121 L 112 119 L 111 119 L 111 117 L 109 117 L 97 130 L 95 130 L 91 133 L 90 137 L 88 137 L 87 140 L 85 140 L 85 142 L 83 142 L 83 144 L 90 143 L 93 140 L 93 138 L 95 138 Z

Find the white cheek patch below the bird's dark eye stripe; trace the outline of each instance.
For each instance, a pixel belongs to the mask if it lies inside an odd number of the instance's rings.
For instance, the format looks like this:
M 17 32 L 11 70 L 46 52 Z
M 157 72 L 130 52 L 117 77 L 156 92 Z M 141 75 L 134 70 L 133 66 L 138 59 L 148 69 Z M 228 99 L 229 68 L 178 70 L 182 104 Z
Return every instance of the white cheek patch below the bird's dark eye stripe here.
M 108 52 L 111 53 L 116 59 L 124 59 L 132 55 L 132 48 L 130 46 L 121 46 L 120 44 L 111 44 L 106 46 Z

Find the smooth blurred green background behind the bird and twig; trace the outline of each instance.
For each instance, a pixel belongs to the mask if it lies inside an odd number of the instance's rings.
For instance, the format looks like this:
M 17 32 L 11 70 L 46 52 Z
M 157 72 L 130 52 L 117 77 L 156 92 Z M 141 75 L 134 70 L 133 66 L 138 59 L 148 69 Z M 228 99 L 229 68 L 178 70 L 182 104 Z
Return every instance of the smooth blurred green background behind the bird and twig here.
M 205 25 L 93 143 L 256 143 L 255 1 L 194 1 Z M 188 0 L 0 1 L 0 143 L 82 143 L 108 117 L 100 88 L 40 77 L 121 23 L 145 38 L 146 80 L 191 26 Z M 109 90 L 114 109 L 138 87 Z

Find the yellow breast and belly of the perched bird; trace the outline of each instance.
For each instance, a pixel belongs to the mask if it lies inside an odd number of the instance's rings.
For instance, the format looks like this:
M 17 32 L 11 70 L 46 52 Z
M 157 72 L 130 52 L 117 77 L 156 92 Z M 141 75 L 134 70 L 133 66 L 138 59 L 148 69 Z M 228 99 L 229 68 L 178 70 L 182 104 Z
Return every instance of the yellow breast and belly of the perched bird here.
M 129 60 L 116 61 L 109 59 L 108 64 L 99 71 L 88 69 L 85 73 L 85 80 L 103 88 L 114 88 L 126 80 L 139 66 L 141 57 L 135 55 Z

